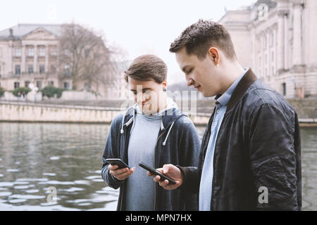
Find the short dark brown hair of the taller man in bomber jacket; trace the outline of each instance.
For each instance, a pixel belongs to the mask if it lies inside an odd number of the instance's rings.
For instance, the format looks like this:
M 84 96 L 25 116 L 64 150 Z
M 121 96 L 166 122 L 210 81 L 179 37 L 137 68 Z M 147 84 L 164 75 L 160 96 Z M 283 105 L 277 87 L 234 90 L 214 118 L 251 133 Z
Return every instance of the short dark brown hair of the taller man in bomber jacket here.
M 187 54 L 204 59 L 210 46 L 221 49 L 227 58 L 237 58 L 229 32 L 223 25 L 210 20 L 198 20 L 187 27 L 170 44 L 170 52 L 176 53 L 185 47 Z

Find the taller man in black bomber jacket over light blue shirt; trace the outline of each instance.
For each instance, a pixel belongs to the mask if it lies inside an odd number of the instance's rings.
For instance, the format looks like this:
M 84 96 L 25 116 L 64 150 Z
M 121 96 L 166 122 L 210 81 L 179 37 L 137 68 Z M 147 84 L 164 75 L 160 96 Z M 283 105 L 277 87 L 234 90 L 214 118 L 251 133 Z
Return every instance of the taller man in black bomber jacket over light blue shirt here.
M 199 193 L 199 210 L 301 210 L 299 122 L 277 91 L 242 68 L 222 25 L 199 20 L 170 46 L 187 79 L 216 96 L 201 143 L 199 167 L 164 165 L 177 184 Z M 148 173 L 149 176 L 151 174 Z

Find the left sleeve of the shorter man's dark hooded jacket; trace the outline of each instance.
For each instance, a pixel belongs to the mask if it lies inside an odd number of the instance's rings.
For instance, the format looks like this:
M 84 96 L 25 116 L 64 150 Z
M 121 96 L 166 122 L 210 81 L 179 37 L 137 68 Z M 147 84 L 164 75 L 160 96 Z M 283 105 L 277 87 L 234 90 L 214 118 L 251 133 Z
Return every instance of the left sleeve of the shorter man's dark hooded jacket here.
M 120 130 L 120 117 L 116 117 L 113 122 L 111 122 L 111 127 L 109 129 L 108 138 L 106 140 L 106 146 L 104 147 L 104 153 L 102 154 L 102 169 L 101 176 L 109 187 L 117 189 L 123 185 L 123 181 L 116 179 L 114 176 L 109 174 L 108 164 L 106 163 L 107 158 L 120 158 L 118 146 Z

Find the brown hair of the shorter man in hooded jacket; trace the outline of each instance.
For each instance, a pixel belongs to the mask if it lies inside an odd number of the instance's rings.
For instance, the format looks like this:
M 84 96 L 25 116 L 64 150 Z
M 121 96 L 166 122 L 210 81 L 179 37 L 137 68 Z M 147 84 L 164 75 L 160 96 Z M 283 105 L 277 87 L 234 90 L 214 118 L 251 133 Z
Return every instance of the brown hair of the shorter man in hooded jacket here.
M 128 77 L 139 81 L 154 79 L 156 83 L 163 83 L 167 77 L 167 66 L 161 58 L 154 55 L 143 55 L 135 58 L 128 70 L 125 71 L 125 81 Z

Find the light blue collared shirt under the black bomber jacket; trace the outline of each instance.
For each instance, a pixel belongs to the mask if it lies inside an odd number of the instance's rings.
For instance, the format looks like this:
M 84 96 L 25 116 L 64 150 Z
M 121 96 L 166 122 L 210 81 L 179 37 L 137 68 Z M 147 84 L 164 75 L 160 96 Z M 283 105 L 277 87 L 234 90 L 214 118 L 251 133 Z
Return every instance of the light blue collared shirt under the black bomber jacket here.
M 225 91 L 223 95 L 216 99 L 216 110 L 213 116 L 213 122 L 211 124 L 211 136 L 207 146 L 206 157 L 204 160 L 203 169 L 201 172 L 201 180 L 199 186 L 199 211 L 211 210 L 211 191 L 213 183 L 213 152 L 215 150 L 215 144 L 220 129 L 225 110 L 227 110 L 228 102 L 231 98 L 232 92 L 235 90 L 237 84 L 240 82 L 249 68 L 245 69 L 242 75 L 238 77 L 233 84 Z

